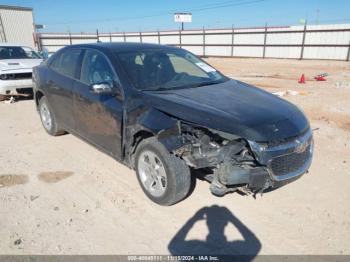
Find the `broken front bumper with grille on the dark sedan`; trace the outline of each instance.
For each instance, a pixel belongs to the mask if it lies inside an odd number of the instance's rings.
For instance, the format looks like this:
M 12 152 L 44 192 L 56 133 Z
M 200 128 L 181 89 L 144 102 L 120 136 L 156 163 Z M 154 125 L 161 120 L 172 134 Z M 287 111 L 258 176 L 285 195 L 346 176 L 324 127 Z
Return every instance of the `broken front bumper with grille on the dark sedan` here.
M 246 185 L 252 192 L 264 191 L 295 181 L 311 165 L 311 129 L 297 138 L 274 146 L 248 142 L 260 166 L 247 168 L 230 163 L 222 164 L 217 170 L 218 182 L 225 186 Z

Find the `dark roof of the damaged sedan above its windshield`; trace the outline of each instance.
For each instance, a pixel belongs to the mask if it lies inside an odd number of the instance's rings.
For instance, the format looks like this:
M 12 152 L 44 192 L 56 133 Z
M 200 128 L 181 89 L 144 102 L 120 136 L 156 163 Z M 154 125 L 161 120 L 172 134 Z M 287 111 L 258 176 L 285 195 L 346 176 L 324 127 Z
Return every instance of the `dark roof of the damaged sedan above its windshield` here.
M 174 47 L 158 44 L 149 43 L 133 43 L 133 42 L 98 42 L 89 44 L 76 44 L 70 45 L 69 47 L 80 47 L 80 48 L 95 48 L 99 50 L 109 50 L 113 52 L 127 52 L 127 51 L 138 51 L 145 49 L 172 49 Z

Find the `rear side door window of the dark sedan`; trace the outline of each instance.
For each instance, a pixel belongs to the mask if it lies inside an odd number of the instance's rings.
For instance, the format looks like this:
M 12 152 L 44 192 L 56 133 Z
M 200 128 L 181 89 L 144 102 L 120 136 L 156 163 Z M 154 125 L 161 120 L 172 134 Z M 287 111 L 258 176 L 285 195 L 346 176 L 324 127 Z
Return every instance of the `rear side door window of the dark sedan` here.
M 75 78 L 80 54 L 80 49 L 65 50 L 55 57 L 51 67 L 63 75 Z

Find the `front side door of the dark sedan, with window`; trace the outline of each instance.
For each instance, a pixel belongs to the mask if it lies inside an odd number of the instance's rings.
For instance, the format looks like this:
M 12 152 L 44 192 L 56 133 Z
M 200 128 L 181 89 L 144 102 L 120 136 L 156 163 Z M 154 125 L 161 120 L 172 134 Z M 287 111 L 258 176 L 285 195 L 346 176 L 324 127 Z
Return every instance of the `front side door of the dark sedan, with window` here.
M 74 86 L 76 130 L 90 143 L 121 159 L 123 101 L 121 96 L 91 92 L 93 84 L 103 82 L 118 82 L 109 59 L 98 50 L 86 49 L 80 81 Z

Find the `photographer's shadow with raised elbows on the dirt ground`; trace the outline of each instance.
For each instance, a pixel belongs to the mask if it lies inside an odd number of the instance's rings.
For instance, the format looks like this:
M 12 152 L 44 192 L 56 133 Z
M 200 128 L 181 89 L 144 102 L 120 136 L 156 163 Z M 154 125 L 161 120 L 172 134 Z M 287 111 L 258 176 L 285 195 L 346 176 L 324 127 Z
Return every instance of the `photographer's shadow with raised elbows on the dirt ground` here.
M 191 228 L 201 220 L 205 220 L 208 227 L 209 233 L 206 240 L 186 240 Z M 229 223 L 237 228 L 243 240 L 227 240 L 225 228 Z M 259 253 L 261 242 L 230 210 L 213 205 L 197 211 L 172 238 L 168 249 L 172 255 L 176 256 L 233 255 L 242 256 L 242 261 L 251 261 Z

